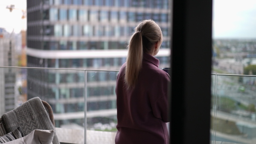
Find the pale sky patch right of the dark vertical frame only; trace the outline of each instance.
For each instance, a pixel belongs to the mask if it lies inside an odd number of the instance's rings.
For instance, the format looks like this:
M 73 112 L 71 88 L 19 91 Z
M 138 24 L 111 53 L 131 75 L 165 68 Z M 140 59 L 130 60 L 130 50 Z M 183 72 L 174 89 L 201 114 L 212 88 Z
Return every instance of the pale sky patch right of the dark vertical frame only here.
M 214 38 L 256 38 L 256 0 L 213 0 Z

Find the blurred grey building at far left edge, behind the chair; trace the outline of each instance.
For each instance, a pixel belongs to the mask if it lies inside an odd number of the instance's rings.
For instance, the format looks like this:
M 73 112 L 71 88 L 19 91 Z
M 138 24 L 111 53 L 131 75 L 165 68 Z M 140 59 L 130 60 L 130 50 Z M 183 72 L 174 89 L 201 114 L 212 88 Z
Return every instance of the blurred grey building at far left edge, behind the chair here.
M 0 66 L 16 66 L 15 38 L 0 28 Z M 16 69 L 0 69 L 0 115 L 14 109 Z

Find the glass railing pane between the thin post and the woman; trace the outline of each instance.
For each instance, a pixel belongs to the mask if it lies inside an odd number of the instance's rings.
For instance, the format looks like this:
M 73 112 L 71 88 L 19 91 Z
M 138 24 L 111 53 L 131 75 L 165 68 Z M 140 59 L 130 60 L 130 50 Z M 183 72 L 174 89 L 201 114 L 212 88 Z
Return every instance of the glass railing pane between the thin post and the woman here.
M 116 132 L 118 72 L 87 71 L 87 130 Z M 87 142 L 92 141 L 87 137 Z

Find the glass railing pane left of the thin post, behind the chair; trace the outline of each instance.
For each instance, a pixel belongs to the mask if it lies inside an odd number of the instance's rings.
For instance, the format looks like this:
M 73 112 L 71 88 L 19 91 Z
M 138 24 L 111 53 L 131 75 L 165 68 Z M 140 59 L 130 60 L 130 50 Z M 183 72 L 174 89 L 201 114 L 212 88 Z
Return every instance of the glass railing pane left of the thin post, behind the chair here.
M 55 126 L 84 129 L 84 70 L 0 68 L 0 115 L 27 100 L 52 107 Z

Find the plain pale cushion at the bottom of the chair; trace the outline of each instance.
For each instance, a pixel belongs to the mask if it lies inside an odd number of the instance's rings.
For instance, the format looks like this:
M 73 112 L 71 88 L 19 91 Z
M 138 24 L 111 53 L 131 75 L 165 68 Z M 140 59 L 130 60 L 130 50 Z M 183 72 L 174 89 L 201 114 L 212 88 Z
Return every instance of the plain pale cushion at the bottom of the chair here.
M 5 144 L 52 144 L 54 130 L 33 130 L 28 135 Z

